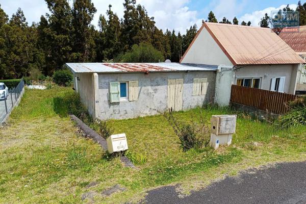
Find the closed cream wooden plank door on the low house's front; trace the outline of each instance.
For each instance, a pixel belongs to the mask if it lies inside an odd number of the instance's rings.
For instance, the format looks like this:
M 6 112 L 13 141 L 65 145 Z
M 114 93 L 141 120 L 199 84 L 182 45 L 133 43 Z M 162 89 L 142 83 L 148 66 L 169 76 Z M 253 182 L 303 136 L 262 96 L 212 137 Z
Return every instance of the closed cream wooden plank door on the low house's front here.
M 168 80 L 167 108 L 171 111 L 183 109 L 183 79 Z

